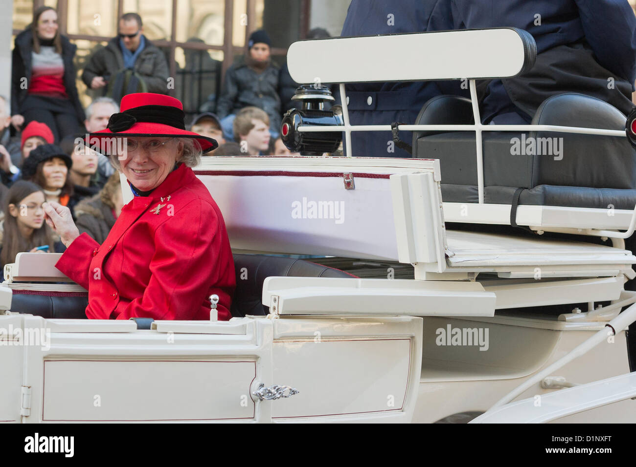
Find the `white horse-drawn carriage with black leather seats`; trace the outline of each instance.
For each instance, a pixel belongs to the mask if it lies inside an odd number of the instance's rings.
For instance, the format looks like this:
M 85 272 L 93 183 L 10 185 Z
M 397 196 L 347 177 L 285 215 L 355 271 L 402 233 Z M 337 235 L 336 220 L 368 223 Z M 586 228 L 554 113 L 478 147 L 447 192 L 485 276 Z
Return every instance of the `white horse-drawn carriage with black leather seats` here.
M 294 43 L 299 83 L 465 78 L 472 102 L 435 98 L 400 125 L 412 159 L 204 158 L 235 253 L 230 321 L 74 319 L 86 291 L 58 255 L 19 254 L 0 287 L 0 421 L 632 421 L 625 116 L 570 94 L 535 125 L 481 125 L 474 80 L 534 54 L 515 29 Z M 351 126 L 345 98 L 339 118 L 293 130 L 344 132 L 349 155 L 350 132 L 391 131 Z M 588 151 L 512 155 L 511 132 Z

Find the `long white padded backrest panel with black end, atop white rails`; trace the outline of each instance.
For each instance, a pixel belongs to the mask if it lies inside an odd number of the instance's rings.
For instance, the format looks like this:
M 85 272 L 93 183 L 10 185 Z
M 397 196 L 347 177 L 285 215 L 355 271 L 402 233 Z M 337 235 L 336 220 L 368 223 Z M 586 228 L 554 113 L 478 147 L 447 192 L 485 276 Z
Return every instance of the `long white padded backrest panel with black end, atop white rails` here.
M 299 41 L 287 50 L 297 83 L 509 78 L 534 65 L 536 44 L 516 28 Z

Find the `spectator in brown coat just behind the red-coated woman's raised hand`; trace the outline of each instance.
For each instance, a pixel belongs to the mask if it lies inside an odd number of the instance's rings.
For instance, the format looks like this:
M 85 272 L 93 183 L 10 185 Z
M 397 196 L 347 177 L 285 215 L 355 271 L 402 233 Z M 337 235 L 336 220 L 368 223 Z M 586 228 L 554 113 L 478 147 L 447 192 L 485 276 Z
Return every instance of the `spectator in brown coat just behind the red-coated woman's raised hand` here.
M 104 243 L 122 206 L 120 175 L 113 173 L 99 193 L 79 201 L 75 206 L 75 225 L 79 233 L 86 232 L 97 243 Z

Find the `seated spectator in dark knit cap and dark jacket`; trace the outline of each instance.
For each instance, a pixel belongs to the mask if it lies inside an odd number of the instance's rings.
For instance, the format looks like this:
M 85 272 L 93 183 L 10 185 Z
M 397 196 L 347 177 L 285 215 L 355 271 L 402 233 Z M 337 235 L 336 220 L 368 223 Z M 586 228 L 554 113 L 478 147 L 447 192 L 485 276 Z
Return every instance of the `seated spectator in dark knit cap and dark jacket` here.
M 253 105 L 270 117 L 273 136 L 280 132 L 279 69 L 270 56 L 270 37 L 264 30 L 249 36 L 245 62 L 235 64 L 225 74 L 223 91 L 216 105 L 226 137 L 232 139 L 233 119 L 240 109 Z

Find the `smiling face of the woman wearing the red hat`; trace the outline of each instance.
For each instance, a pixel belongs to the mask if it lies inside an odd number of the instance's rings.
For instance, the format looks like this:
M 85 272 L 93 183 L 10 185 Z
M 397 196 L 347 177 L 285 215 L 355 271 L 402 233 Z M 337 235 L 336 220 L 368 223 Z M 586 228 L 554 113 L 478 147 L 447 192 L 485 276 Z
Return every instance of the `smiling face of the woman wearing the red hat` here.
M 176 138 L 127 138 L 123 146 L 128 149 L 120 155 L 121 172 L 141 191 L 160 186 L 183 156 L 183 142 Z

